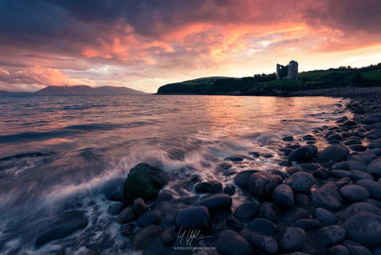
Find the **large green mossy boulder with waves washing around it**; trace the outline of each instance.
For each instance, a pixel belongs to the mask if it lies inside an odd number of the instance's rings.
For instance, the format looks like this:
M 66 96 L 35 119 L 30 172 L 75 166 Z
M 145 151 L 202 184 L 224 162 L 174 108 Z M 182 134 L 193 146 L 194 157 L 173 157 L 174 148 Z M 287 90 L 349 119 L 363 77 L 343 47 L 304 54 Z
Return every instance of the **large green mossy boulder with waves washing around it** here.
M 123 196 L 126 204 L 132 204 L 133 200 L 141 197 L 144 201 L 154 199 L 159 190 L 173 177 L 168 172 L 140 163 L 130 170 L 125 184 Z

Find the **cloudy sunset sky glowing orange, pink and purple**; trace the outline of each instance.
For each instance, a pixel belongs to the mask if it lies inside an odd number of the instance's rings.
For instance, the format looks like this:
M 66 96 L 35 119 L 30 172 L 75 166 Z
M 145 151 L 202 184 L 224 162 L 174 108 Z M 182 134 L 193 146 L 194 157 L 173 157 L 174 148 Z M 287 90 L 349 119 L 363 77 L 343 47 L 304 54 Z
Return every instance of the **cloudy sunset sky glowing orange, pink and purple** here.
M 380 0 L 0 0 L 0 90 L 381 62 Z

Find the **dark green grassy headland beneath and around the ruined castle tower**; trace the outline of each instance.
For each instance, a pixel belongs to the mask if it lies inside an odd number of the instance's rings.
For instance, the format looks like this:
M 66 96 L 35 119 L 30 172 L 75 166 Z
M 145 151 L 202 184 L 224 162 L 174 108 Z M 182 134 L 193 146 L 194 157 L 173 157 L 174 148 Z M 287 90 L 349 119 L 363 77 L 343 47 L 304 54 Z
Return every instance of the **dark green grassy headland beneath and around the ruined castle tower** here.
M 299 80 L 276 80 L 275 73 L 253 77 L 208 77 L 159 87 L 157 94 L 281 95 L 308 89 L 381 86 L 381 63 L 299 73 Z

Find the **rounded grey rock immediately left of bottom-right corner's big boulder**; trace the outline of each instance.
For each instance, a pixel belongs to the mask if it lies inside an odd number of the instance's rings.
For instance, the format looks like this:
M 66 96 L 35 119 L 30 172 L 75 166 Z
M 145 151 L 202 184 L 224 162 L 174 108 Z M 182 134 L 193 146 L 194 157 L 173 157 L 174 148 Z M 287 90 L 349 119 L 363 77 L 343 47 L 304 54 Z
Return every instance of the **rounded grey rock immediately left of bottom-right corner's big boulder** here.
M 323 247 L 332 246 L 343 241 L 346 235 L 345 229 L 337 225 L 322 227 L 315 233 L 316 241 Z

